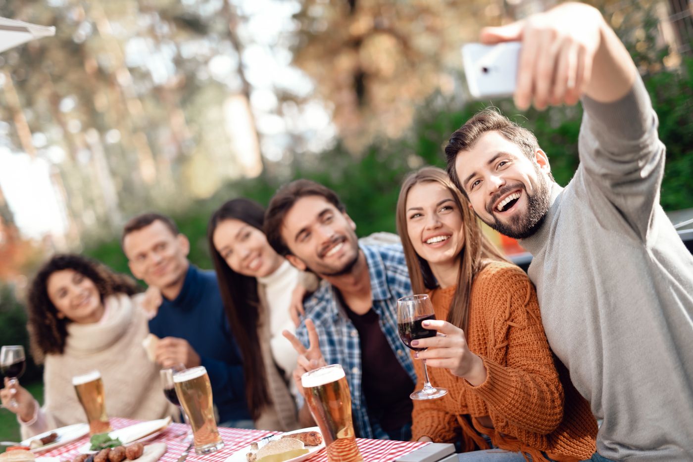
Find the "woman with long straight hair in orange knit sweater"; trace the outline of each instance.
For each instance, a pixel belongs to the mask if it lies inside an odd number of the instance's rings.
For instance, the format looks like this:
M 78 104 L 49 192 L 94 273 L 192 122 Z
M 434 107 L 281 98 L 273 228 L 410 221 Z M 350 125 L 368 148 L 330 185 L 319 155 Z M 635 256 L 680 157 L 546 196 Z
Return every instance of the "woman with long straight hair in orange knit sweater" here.
M 423 168 L 404 181 L 397 229 L 412 289 L 430 294 L 435 308 L 436 320 L 423 325 L 444 334 L 412 341 L 428 348 L 414 357 L 449 391 L 414 401 L 413 439 L 459 443 L 460 461 L 589 459 L 597 423 L 554 362 L 534 286 L 482 234 L 444 170 Z

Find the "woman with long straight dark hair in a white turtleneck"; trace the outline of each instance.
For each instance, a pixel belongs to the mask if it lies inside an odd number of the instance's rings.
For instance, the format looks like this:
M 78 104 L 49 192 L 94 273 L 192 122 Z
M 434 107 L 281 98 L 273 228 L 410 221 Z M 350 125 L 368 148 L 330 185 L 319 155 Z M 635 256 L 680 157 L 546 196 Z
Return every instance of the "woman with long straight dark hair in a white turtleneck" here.
M 289 305 L 297 285 L 314 289 L 315 276 L 299 272 L 267 243 L 265 210 L 232 199 L 209 220 L 209 250 L 231 330 L 243 355 L 248 409 L 257 429 L 299 427 L 291 374 L 297 353 L 281 335 L 295 332 Z

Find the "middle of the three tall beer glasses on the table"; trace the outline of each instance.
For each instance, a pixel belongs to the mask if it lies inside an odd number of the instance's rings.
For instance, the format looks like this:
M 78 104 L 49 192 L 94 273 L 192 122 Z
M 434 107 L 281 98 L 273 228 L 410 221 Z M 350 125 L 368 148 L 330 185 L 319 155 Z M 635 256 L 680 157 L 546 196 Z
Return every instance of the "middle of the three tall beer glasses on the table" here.
M 214 420 L 212 387 L 207 369 L 202 366 L 173 375 L 175 392 L 193 427 L 195 453 L 207 454 L 224 447 Z

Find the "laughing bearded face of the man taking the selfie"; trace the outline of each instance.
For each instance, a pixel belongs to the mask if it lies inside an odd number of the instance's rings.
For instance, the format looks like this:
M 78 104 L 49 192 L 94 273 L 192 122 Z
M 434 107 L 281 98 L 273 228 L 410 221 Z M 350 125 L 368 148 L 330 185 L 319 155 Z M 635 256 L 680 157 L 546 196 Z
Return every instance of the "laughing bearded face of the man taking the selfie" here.
M 455 159 L 457 179 L 476 214 L 511 238 L 532 236 L 550 206 L 548 159 L 542 150 L 533 157 L 490 131 Z

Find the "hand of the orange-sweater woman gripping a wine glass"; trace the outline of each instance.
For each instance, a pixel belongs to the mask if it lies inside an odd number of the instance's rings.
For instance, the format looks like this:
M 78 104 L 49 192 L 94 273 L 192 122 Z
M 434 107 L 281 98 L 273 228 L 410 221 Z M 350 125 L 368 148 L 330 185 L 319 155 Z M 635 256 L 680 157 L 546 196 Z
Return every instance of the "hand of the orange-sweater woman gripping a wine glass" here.
M 427 319 L 421 323 L 423 328 L 437 330 L 441 334 L 427 339 L 413 340 L 412 346 L 426 348 L 415 356 L 426 359 L 431 367 L 446 368 L 453 375 L 462 377 L 475 387 L 486 380 L 486 366 L 483 360 L 469 350 L 464 331 L 448 321 Z

